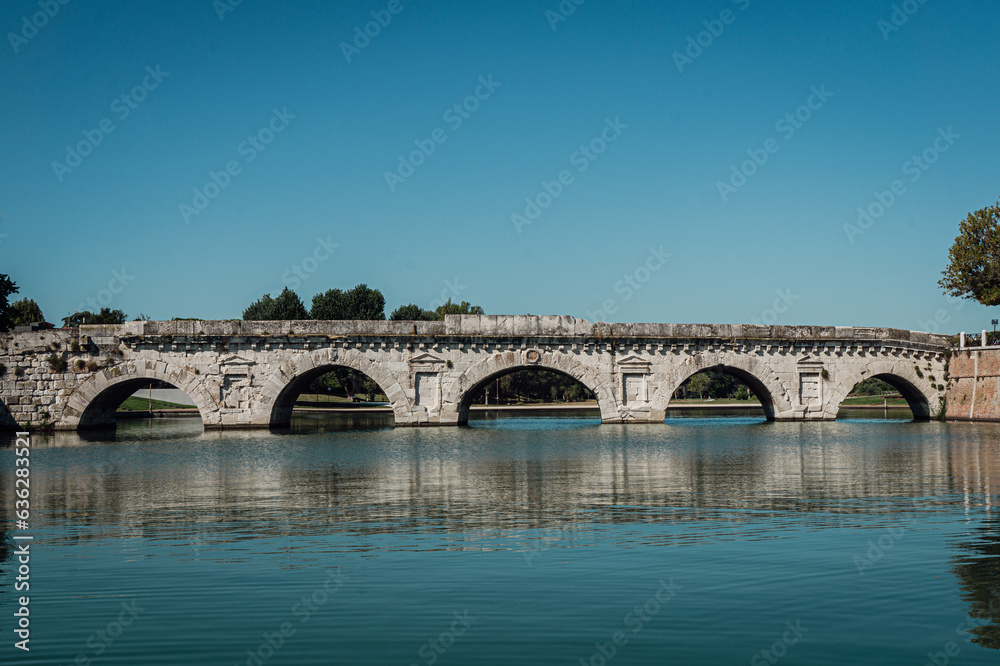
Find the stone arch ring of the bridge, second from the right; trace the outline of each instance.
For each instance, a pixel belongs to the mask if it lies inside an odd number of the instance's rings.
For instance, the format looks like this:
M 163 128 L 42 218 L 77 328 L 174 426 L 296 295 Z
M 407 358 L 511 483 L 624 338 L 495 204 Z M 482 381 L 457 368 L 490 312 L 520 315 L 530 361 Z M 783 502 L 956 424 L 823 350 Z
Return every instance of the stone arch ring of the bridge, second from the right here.
M 736 353 L 701 353 L 684 363 L 673 366 L 660 378 L 660 387 L 650 400 L 650 409 L 666 413 L 674 391 L 693 375 L 704 370 L 720 370 L 733 375 L 753 391 L 764 409 L 764 416 L 773 421 L 782 412 L 790 412 L 788 390 L 777 373 L 755 355 Z

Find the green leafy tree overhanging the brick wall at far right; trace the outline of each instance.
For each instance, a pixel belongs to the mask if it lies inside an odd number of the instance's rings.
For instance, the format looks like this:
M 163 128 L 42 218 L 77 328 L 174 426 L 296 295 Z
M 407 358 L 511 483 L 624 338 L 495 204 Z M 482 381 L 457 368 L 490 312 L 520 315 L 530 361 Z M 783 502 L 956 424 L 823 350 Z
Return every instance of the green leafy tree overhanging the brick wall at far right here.
M 1000 305 L 1000 202 L 969 213 L 942 274 L 938 284 L 945 293 Z

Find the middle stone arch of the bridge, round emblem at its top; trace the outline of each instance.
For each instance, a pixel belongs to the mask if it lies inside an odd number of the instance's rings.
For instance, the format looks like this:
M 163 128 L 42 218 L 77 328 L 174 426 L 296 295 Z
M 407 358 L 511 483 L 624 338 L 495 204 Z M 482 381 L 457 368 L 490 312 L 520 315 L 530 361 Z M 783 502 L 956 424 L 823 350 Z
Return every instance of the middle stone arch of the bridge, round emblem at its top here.
M 553 370 L 572 377 L 597 396 L 597 406 L 601 410 L 603 423 L 619 420 L 614 393 L 608 384 L 592 368 L 574 358 L 568 352 L 540 350 L 514 350 L 493 354 L 489 358 L 470 366 L 452 381 L 444 395 L 444 404 L 458 410 L 458 423 L 469 422 L 469 408 L 476 392 L 488 382 L 519 370 Z

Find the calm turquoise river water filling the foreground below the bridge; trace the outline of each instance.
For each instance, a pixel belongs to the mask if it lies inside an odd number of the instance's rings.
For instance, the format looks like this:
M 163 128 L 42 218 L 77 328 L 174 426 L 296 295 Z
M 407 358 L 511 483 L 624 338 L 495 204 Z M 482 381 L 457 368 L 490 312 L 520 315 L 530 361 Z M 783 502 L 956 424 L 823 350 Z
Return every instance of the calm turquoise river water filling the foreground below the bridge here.
M 0 662 L 1000 663 L 1000 426 L 389 423 L 34 435 Z

